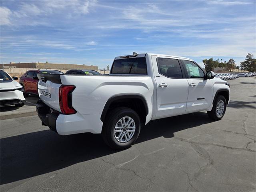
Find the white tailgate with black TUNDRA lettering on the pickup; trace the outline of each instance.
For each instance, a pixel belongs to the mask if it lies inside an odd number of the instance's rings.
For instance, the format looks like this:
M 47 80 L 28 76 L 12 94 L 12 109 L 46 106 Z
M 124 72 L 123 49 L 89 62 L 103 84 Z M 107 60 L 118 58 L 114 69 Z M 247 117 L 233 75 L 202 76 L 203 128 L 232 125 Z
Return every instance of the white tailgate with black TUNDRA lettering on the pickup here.
M 59 74 L 38 74 L 38 78 L 38 95 L 41 100 L 49 107 L 61 112 L 59 104 L 59 88 L 61 86 L 61 82 L 58 81 L 60 79 Z

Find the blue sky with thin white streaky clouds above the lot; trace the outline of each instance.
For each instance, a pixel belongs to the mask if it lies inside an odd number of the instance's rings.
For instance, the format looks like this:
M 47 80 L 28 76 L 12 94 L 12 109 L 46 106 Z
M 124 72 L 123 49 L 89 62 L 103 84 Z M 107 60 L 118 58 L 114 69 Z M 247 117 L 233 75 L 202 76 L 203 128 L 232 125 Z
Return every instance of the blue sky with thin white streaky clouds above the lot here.
M 160 53 L 236 64 L 256 56 L 256 0 L 0 0 L 0 63 L 106 68 Z

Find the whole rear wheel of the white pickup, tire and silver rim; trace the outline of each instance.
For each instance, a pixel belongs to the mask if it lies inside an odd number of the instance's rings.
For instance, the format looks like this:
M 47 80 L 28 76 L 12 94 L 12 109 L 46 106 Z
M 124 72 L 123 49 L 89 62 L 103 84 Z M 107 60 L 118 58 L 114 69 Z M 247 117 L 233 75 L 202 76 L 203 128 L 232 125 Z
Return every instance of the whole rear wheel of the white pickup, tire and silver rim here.
M 119 107 L 106 116 L 102 136 L 111 148 L 128 148 L 137 140 L 139 134 L 140 117 L 131 108 Z

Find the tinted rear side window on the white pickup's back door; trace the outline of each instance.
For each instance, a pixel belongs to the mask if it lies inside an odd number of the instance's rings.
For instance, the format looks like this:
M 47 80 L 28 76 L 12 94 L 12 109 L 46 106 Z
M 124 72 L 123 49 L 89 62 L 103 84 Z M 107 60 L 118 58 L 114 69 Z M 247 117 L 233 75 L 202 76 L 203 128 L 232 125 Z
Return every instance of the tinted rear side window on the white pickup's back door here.
M 177 59 L 158 58 L 158 72 L 170 78 L 182 78 L 180 64 Z

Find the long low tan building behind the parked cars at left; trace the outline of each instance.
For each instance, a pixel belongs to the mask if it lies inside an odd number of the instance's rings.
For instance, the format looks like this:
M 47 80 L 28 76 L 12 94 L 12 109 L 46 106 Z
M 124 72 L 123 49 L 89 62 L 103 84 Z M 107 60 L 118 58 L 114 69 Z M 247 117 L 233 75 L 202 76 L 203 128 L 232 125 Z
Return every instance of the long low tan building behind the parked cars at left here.
M 98 71 L 98 66 L 78 65 L 78 64 L 60 64 L 60 63 L 14 63 L 4 64 L 5 66 L 14 66 L 16 68 L 34 68 L 34 69 L 87 69 Z

